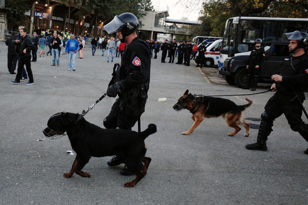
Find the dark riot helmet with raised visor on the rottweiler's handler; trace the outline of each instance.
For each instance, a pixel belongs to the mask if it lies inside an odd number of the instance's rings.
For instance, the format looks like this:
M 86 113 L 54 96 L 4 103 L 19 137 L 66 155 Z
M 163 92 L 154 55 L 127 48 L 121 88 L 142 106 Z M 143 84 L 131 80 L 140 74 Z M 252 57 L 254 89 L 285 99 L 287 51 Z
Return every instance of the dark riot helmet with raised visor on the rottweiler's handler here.
M 138 18 L 132 13 L 122 13 L 114 16 L 113 20 L 104 26 L 107 33 L 121 31 L 123 38 L 139 28 Z

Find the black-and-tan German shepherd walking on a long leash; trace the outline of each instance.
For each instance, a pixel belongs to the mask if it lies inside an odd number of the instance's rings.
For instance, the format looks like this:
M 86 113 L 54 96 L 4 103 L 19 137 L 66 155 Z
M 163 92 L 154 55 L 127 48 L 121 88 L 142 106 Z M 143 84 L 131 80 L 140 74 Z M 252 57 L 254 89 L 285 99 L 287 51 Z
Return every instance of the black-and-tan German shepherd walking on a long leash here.
M 181 96 L 173 108 L 176 111 L 182 109 L 189 110 L 192 115 L 191 119 L 194 120 L 194 124 L 186 132 L 182 132 L 183 135 L 192 133 L 202 122 L 204 118 L 222 116 L 229 127 L 235 129 L 234 132 L 228 133 L 229 136 L 233 136 L 238 133 L 241 128 L 239 125 L 246 129 L 245 137 L 249 135 L 249 124 L 243 120 L 242 112 L 253 104 L 253 101 L 246 98 L 248 104 L 238 106 L 229 99 L 220 97 L 208 97 L 204 95 L 192 95 L 188 94 L 188 90 Z

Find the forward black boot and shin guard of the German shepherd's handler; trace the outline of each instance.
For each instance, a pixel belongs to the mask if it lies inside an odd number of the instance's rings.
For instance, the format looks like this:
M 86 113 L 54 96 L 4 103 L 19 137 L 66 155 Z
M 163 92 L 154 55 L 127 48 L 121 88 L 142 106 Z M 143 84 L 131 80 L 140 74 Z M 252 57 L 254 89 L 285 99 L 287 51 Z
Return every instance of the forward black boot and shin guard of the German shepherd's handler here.
M 248 150 L 260 150 L 267 151 L 266 140 L 267 136 L 272 132 L 273 122 L 267 121 L 267 114 L 264 112 L 261 115 L 261 123 L 259 127 L 257 142 L 254 144 L 246 145 L 246 149 Z

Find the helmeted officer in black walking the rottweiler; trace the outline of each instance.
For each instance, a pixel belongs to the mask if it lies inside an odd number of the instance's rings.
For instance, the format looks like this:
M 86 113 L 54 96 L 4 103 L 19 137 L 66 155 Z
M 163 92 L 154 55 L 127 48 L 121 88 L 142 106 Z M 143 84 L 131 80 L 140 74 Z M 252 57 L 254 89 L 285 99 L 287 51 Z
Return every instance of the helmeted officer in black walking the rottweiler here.
M 115 64 L 113 67 L 112 79 L 107 88 L 109 97 L 118 95 L 119 98 L 104 119 L 106 128 L 131 130 L 144 112 L 150 82 L 151 53 L 148 44 L 137 37 L 136 30 L 139 26 L 138 18 L 131 13 L 114 16 L 113 20 L 104 26 L 109 34 L 117 32 L 121 42 L 127 45 L 121 65 Z M 121 163 L 123 159 L 118 156 L 113 156 L 108 161 L 109 166 Z M 140 162 L 140 169 L 142 167 Z M 125 166 L 120 173 L 130 175 L 131 171 Z

